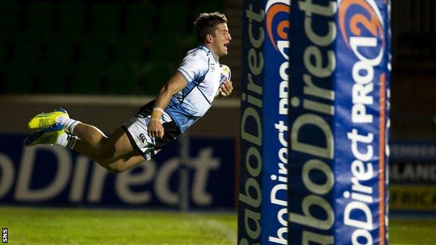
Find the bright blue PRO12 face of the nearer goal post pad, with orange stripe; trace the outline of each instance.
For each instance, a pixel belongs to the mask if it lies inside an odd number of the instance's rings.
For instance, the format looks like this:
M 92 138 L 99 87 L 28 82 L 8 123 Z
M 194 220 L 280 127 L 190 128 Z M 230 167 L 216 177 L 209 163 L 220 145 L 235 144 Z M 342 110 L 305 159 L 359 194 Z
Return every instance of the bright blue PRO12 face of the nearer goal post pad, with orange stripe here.
M 386 0 L 342 0 L 337 11 L 337 244 L 387 243 L 390 17 Z

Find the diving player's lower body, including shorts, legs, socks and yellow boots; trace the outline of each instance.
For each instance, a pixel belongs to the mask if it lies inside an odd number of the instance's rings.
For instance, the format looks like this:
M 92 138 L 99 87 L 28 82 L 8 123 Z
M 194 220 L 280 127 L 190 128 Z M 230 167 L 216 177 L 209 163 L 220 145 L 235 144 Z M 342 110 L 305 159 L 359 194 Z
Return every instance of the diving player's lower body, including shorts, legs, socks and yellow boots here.
M 152 105 L 152 102 L 148 103 Z M 148 106 L 150 107 L 150 106 Z M 106 137 L 99 128 L 70 119 L 65 110 L 41 113 L 29 121 L 29 128 L 43 128 L 31 135 L 25 142 L 27 146 L 35 144 L 56 144 L 75 149 L 88 156 L 111 172 L 122 172 L 145 160 L 150 160 L 161 147 L 174 140 L 180 134 L 170 117 L 163 117 L 165 135 L 156 142 L 147 134 L 150 121 L 150 108 L 133 117 Z M 52 126 L 49 124 L 53 123 Z

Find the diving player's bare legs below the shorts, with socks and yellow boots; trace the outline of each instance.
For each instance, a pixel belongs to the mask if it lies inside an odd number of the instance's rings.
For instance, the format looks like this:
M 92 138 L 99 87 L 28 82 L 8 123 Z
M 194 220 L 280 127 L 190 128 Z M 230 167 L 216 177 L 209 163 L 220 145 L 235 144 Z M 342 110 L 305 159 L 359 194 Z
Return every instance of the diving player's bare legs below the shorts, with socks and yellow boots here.
M 111 172 L 127 170 L 145 160 L 140 152 L 133 150 L 122 128 L 108 138 L 99 128 L 71 119 L 62 108 L 37 114 L 28 125 L 43 129 L 27 138 L 27 146 L 56 144 L 75 149 Z

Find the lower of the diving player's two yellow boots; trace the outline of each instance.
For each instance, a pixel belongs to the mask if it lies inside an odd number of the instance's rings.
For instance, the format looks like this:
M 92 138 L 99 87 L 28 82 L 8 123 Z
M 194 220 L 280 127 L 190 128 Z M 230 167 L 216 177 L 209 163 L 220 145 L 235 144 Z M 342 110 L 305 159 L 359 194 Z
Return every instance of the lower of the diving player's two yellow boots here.
M 40 131 L 31 134 L 25 141 L 27 147 L 36 144 L 54 144 L 60 135 L 65 133 L 64 127 L 61 124 L 55 123 L 48 128 L 43 128 Z

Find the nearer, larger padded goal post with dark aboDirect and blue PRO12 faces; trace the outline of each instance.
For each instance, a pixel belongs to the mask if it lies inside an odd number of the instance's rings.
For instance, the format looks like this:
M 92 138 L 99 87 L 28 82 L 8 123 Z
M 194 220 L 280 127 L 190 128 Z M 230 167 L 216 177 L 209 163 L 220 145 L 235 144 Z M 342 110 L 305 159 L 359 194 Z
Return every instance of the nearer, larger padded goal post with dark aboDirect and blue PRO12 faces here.
M 291 6 L 289 244 L 386 244 L 389 4 Z

